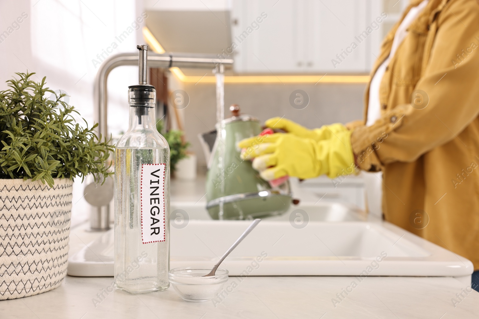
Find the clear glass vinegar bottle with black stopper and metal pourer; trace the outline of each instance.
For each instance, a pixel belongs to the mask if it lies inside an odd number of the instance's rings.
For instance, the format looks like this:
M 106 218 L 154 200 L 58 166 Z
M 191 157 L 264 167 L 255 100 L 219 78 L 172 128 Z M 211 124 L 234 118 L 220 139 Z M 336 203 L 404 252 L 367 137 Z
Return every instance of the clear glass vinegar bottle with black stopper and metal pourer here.
M 156 129 L 147 45 L 139 84 L 128 87 L 128 131 L 115 150 L 115 286 L 132 294 L 167 289 L 170 268 L 170 147 Z

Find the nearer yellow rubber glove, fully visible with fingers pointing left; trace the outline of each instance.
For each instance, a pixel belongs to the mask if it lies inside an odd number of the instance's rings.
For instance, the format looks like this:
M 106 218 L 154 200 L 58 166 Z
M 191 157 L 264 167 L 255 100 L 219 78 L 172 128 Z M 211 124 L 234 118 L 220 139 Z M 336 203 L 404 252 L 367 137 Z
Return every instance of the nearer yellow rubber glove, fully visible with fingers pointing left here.
M 242 140 L 238 146 L 244 149 L 241 158 L 254 158 L 253 168 L 265 180 L 286 175 L 307 179 L 326 174 L 335 178 L 354 172 L 350 131 L 319 142 L 291 133 L 274 133 Z

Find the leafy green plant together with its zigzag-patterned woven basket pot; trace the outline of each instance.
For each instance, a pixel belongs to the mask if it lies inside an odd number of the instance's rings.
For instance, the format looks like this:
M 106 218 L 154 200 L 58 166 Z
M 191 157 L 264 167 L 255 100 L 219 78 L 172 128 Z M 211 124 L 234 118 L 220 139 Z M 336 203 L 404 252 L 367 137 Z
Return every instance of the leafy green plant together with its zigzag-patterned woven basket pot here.
M 0 299 L 36 295 L 67 273 L 73 178 L 113 173 L 113 146 L 75 123 L 45 77 L 16 73 L 0 92 Z M 54 97 L 53 99 L 51 97 Z

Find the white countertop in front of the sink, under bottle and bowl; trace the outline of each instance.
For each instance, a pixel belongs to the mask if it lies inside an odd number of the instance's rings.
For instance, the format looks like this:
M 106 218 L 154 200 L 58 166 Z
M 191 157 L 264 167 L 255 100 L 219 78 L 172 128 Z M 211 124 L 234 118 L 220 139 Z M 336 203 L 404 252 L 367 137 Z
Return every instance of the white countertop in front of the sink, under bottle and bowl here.
M 227 285 L 233 280 L 238 283 L 230 277 Z M 67 276 L 49 292 L 1 301 L 0 318 L 478 318 L 479 293 L 464 294 L 454 307 L 451 299 L 465 286 L 450 277 L 369 276 L 335 308 L 331 299 L 353 280 L 251 276 L 215 307 L 211 301 L 183 301 L 171 287 L 136 296 L 114 290 L 101 301 L 97 294 L 112 284 L 112 277 Z M 93 298 L 101 301 L 96 307 Z

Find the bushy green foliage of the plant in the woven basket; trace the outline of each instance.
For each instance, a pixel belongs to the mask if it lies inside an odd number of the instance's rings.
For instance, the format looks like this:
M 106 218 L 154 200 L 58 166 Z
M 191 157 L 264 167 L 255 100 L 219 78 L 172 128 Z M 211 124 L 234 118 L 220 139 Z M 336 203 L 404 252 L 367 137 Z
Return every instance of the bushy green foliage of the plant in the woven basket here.
M 113 146 L 95 135 L 98 124 L 75 123 L 72 114 L 80 113 L 62 100 L 66 94 L 45 87 L 46 77 L 39 83 L 30 79 L 34 73 L 16 75 L 0 91 L 0 178 L 40 179 L 52 187 L 53 178 L 112 175 L 105 163 Z

